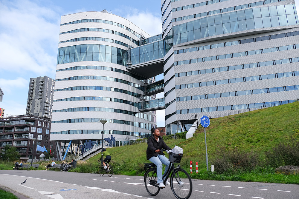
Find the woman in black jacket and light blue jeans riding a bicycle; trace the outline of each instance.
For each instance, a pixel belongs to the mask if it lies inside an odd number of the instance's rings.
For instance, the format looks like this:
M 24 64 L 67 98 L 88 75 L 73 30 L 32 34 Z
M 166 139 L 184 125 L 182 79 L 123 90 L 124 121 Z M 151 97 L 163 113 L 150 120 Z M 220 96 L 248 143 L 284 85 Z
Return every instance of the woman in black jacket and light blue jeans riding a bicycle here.
M 162 137 L 160 136 L 160 131 L 158 129 L 152 128 L 151 132 L 152 135 L 147 139 L 147 160 L 151 161 L 157 166 L 157 182 L 160 188 L 165 188 L 162 179 L 162 164 L 165 165 L 164 172 L 167 172 L 170 162 L 160 149 L 171 150 L 171 148 L 165 144 Z M 170 182 L 167 180 L 165 184 L 170 185 Z

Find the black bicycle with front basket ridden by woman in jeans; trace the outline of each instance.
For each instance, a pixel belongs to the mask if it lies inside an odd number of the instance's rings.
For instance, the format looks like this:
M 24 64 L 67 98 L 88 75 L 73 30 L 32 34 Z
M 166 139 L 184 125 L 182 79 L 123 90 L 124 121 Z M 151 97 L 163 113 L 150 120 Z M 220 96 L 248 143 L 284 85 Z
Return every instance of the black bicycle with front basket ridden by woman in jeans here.
M 166 150 L 161 150 L 166 151 Z M 171 153 L 169 155 L 172 155 Z M 180 160 L 179 160 L 180 161 Z M 179 162 L 177 162 L 179 163 Z M 155 196 L 159 193 L 160 188 L 157 180 L 157 168 L 153 163 L 144 163 L 144 169 L 147 171 L 144 174 L 144 183 L 145 189 L 149 195 Z M 170 188 L 176 198 L 187 199 L 190 197 L 192 192 L 192 182 L 190 175 L 184 170 L 181 169 L 181 166 L 178 165 L 174 167 L 174 163 L 170 162 L 169 169 L 167 172 L 164 172 L 163 183 L 167 181 L 167 178 L 170 176 Z

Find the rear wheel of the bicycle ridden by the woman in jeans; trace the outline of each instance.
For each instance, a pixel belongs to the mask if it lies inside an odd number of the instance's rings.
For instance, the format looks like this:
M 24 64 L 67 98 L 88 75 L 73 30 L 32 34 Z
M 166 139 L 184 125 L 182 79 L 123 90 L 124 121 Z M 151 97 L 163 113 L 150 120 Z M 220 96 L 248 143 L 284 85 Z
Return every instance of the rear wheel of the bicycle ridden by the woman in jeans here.
M 145 189 L 149 193 L 149 195 L 157 195 L 160 191 L 159 187 L 153 186 L 151 184 L 157 184 L 157 172 L 155 168 L 147 169 L 147 172 L 144 174 L 144 183 L 145 183 Z

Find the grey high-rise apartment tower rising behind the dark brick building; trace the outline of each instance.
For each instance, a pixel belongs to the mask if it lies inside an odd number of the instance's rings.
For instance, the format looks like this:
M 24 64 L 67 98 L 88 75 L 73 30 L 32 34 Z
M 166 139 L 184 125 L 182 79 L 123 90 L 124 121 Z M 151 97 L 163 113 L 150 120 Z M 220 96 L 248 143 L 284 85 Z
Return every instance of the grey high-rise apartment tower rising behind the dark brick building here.
M 30 78 L 26 114 L 52 117 L 55 81 L 47 76 Z

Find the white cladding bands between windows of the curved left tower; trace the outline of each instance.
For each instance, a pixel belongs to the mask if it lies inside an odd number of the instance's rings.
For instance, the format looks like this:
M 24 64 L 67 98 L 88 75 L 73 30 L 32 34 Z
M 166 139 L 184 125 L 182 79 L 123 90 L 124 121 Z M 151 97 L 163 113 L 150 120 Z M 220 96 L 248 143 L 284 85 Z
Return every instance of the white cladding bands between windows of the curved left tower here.
M 75 13 L 71 15 L 62 16 L 61 23 L 68 23 L 71 21 L 77 21 L 81 19 L 103 19 L 103 20 L 109 20 L 113 21 L 119 24 L 122 24 L 126 27 L 129 27 L 131 30 L 135 31 L 138 34 L 143 34 L 146 37 L 149 37 L 147 33 L 145 33 L 143 30 L 132 24 L 131 22 L 127 21 L 126 19 L 110 14 L 110 13 L 101 13 L 101 12 L 84 12 L 84 13 Z M 112 25 L 112 24 L 104 24 L 104 23 L 97 23 L 97 22 L 87 22 L 87 23 L 77 23 L 77 24 L 68 24 L 68 25 L 62 25 L 60 27 L 60 32 L 67 32 L 70 30 L 80 29 L 80 28 L 103 28 L 108 30 L 114 30 L 120 33 L 123 33 L 136 41 L 139 40 L 137 36 L 135 36 L 133 33 L 129 32 L 128 30 Z M 77 32 L 77 33 L 66 33 L 60 35 L 59 41 L 66 41 L 71 40 L 74 38 L 80 38 L 80 37 L 103 37 L 103 38 L 109 38 L 114 39 L 117 41 L 121 41 L 123 43 L 136 46 L 132 41 L 129 41 L 129 39 L 124 38 L 122 36 L 118 36 L 112 33 L 105 33 L 105 32 L 94 32 L 94 31 L 88 31 L 88 32 Z M 59 47 L 66 47 L 66 46 L 74 46 L 74 45 L 82 45 L 82 44 L 101 44 L 101 45 L 107 45 L 112 47 L 118 47 L 120 49 L 128 50 L 128 48 L 120 45 L 115 44 L 112 42 L 105 42 L 105 41 L 94 41 L 94 40 L 88 40 L 88 41 L 75 41 L 75 42 L 65 42 L 60 43 Z M 124 71 L 126 70 L 126 67 L 119 64 L 113 64 L 113 63 L 107 63 L 107 62 L 98 62 L 98 61 L 78 61 L 78 62 L 72 62 L 67 64 L 58 64 L 57 70 L 60 69 L 66 69 L 70 67 L 75 66 L 102 66 L 102 67 L 111 67 L 115 69 L 121 69 Z M 128 72 L 128 71 L 127 71 Z M 144 85 L 141 81 L 138 79 L 135 79 L 134 77 L 130 75 L 123 74 L 121 72 L 115 72 L 111 70 L 95 70 L 95 69 L 84 69 L 84 70 L 67 70 L 67 71 L 57 71 L 56 72 L 56 79 L 64 79 L 68 77 L 74 77 L 74 76 L 103 76 L 103 77 L 111 77 L 111 78 L 118 78 L 120 80 L 128 81 L 137 85 Z M 98 86 L 98 87 L 111 87 L 112 89 L 122 89 L 124 91 L 129 91 L 133 93 L 143 94 L 144 92 L 139 90 L 138 88 L 135 88 L 131 85 L 128 85 L 126 83 L 121 83 L 118 81 L 106 81 L 106 80 L 93 80 L 93 79 L 84 79 L 84 80 L 65 80 L 65 81 L 57 81 L 55 86 L 55 90 L 58 89 L 64 89 L 69 87 L 81 87 L 81 86 Z M 82 96 L 99 96 L 99 97 L 106 97 L 106 98 L 117 98 L 121 100 L 126 100 L 130 102 L 138 103 L 139 99 L 135 96 L 121 93 L 121 92 L 115 92 L 111 90 L 65 90 L 65 91 L 56 91 L 54 92 L 54 100 L 58 99 L 65 99 L 65 98 L 71 98 L 71 97 L 82 97 Z M 110 109 L 119 109 L 119 110 L 125 110 L 125 111 L 132 111 L 139 113 L 139 117 L 134 115 L 129 115 L 126 113 L 118 113 L 118 112 L 105 112 L 105 111 L 76 111 L 76 112 L 53 112 L 54 117 L 52 118 L 52 125 L 51 125 L 51 132 L 62 132 L 62 131 L 68 131 L 68 130 L 87 130 L 87 129 L 102 129 L 103 125 L 100 122 L 78 122 L 78 123 L 57 123 L 57 121 L 64 121 L 69 119 L 81 119 L 81 118 L 100 118 L 100 119 L 106 119 L 108 122 L 104 125 L 104 130 L 109 132 L 109 130 L 112 131 L 125 131 L 125 132 L 140 132 L 142 133 L 148 133 L 150 132 L 150 127 L 156 125 L 154 121 L 147 120 L 147 115 L 151 117 L 151 115 L 156 116 L 154 113 L 151 112 L 145 112 L 141 113 L 138 111 L 138 107 L 121 103 L 121 102 L 114 102 L 114 101 L 91 101 L 91 100 L 82 100 L 82 101 L 56 101 L 53 104 L 54 108 L 53 110 L 65 110 L 68 108 L 78 108 L 78 107 L 100 107 L 100 108 L 110 108 Z M 141 115 L 140 115 L 141 114 Z M 141 116 L 142 114 L 147 114 L 145 118 L 143 119 Z M 112 123 L 110 123 L 110 120 Z M 113 123 L 113 120 L 120 120 L 120 121 L 129 121 L 130 124 L 115 124 Z M 150 124 L 150 127 L 147 127 L 147 129 L 141 128 L 141 127 L 135 127 L 134 125 L 131 125 L 131 122 L 134 123 L 146 123 Z M 96 137 L 98 135 L 93 134 L 51 134 L 51 140 L 60 140 L 60 139 L 97 139 Z M 105 134 L 106 137 L 107 134 Z M 107 135 L 110 137 L 110 135 Z M 126 136 L 126 135 L 125 135 Z

